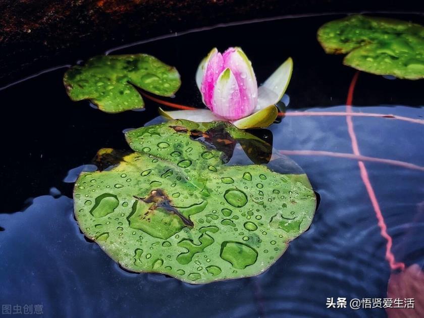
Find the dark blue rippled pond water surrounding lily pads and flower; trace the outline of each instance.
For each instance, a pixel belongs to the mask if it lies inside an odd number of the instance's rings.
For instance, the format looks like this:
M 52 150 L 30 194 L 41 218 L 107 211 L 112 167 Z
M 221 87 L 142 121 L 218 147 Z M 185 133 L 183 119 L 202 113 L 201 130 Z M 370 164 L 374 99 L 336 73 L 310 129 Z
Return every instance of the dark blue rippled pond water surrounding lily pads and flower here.
M 72 102 L 62 84 L 65 68 L 0 91 L 8 114 L 1 127 L 0 303 L 42 304 L 45 316 L 69 317 L 386 316 L 382 308 L 327 309 L 326 299 L 387 297 L 387 240 L 364 180 L 393 239 L 396 261 L 424 265 L 422 80 L 359 74 L 352 112 L 380 115 L 351 117 L 365 157 L 355 156 L 344 114 L 355 70 L 344 67 L 342 57 L 326 55 L 315 39 L 319 26 L 338 17 L 228 26 L 113 51 L 146 52 L 176 66 L 183 85 L 172 101 L 193 106 L 201 104 L 197 63 L 211 46 L 243 47 L 258 82 L 293 57 L 288 115 L 269 131 L 274 148 L 303 168 L 321 202 L 310 229 L 253 278 L 196 286 L 128 273 L 79 231 L 73 178 L 99 148 L 127 149 L 122 131 L 155 118 L 157 104 L 147 100 L 143 112 L 109 115 L 87 101 Z

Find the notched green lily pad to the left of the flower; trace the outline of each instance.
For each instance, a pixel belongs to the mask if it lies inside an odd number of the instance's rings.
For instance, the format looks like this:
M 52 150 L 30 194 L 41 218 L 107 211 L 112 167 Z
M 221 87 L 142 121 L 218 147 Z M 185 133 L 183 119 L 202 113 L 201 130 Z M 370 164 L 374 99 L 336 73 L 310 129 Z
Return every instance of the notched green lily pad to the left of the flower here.
M 97 56 L 71 67 L 64 84 L 72 100 L 90 99 L 107 113 L 144 108 L 137 89 L 172 96 L 180 87 L 178 71 L 146 55 Z

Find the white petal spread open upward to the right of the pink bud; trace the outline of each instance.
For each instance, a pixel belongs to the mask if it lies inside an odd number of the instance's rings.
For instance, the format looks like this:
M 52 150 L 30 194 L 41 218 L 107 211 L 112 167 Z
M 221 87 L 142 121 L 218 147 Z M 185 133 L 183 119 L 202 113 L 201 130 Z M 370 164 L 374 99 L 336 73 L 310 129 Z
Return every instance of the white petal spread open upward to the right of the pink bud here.
M 274 105 L 283 98 L 289 85 L 293 71 L 293 60 L 288 58 L 280 67 L 258 88 L 258 99 L 255 112 Z

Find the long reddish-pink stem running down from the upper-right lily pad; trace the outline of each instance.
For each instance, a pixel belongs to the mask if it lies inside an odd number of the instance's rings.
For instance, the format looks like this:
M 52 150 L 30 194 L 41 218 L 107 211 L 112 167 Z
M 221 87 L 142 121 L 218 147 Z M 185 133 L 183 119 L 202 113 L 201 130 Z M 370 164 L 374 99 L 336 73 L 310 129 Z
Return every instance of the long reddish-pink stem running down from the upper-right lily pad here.
M 348 113 L 348 115 L 346 116 L 346 123 L 347 123 L 349 136 L 352 142 L 353 153 L 359 156 L 361 154 L 359 152 L 358 141 L 356 139 L 355 131 L 353 129 L 353 121 L 352 121 L 353 92 L 355 89 L 358 76 L 359 76 L 359 71 L 355 73 L 355 75 L 352 78 L 352 82 L 350 83 L 350 86 L 349 86 L 349 91 L 348 91 L 347 100 L 346 100 L 346 113 Z M 374 211 L 376 213 L 378 225 L 380 227 L 380 233 L 387 241 L 386 260 L 389 262 L 390 268 L 392 270 L 396 270 L 396 269 L 404 270 L 405 264 L 403 262 L 396 262 L 395 256 L 392 253 L 393 240 L 392 240 L 392 237 L 387 233 L 387 226 L 386 226 L 386 223 L 384 222 L 384 217 L 381 212 L 380 205 L 376 197 L 376 193 L 374 192 L 373 186 L 371 182 L 369 181 L 368 172 L 366 171 L 365 164 L 362 161 L 358 161 L 358 166 L 359 166 L 362 182 L 365 185 L 366 191 L 368 192 L 369 199 L 371 200 L 371 203 L 373 204 L 373 207 L 374 207 Z

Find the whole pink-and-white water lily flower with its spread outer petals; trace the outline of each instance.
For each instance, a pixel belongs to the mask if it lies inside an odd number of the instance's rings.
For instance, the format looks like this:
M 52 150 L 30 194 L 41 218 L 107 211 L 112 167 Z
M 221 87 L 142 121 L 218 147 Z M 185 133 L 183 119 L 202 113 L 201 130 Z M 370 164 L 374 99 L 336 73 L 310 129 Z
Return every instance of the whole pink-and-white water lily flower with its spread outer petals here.
M 278 115 L 275 104 L 283 97 L 293 70 L 288 58 L 260 87 L 251 62 L 240 47 L 223 54 L 213 48 L 200 62 L 196 83 L 208 110 L 165 112 L 171 119 L 195 122 L 229 121 L 240 129 L 268 127 Z

